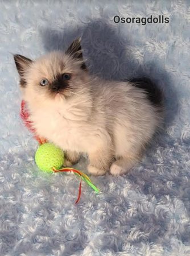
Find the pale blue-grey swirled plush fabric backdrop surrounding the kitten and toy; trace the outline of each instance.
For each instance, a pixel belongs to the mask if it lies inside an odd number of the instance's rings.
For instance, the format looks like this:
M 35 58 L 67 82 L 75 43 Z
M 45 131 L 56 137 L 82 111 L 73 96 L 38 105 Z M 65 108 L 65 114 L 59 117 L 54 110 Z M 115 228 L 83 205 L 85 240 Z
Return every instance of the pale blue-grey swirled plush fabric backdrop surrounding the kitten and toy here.
M 115 24 L 164 15 L 168 24 Z M 190 1 L 0 1 L 0 255 L 190 255 Z M 150 76 L 164 90 L 166 125 L 122 177 L 43 174 L 38 143 L 19 118 L 12 53 L 35 58 L 82 35 L 90 72 Z M 77 165 L 86 171 L 86 160 Z

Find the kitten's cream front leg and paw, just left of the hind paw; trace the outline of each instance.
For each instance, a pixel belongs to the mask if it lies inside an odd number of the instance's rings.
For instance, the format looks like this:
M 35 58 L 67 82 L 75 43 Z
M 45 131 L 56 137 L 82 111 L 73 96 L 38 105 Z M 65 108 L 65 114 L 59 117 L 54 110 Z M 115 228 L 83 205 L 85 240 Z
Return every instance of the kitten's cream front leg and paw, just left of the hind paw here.
M 88 171 L 94 176 L 105 175 L 109 171 L 112 162 L 111 150 L 108 148 L 104 150 L 97 150 L 89 153 L 89 166 Z

